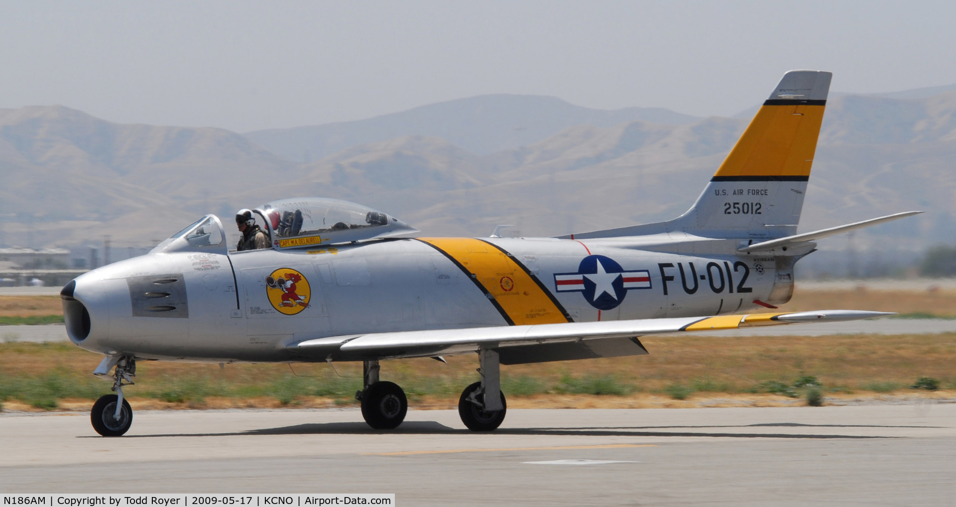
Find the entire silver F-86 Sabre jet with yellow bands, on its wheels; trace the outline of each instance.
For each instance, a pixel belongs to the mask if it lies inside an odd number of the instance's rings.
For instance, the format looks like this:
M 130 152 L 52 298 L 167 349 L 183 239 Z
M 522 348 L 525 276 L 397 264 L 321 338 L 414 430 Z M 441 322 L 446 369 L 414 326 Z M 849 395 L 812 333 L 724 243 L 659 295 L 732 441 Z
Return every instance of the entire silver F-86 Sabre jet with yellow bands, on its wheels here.
M 476 354 L 481 380 L 458 410 L 470 430 L 494 430 L 507 409 L 501 364 L 638 356 L 648 334 L 887 315 L 739 313 L 787 302 L 793 265 L 816 240 L 919 212 L 796 233 L 831 77 L 784 75 L 697 201 L 666 222 L 412 237 L 375 209 L 297 198 L 253 209 L 272 248 L 236 252 L 206 215 L 63 288 L 70 340 L 105 355 L 94 373 L 116 392 L 93 406 L 93 427 L 130 428 L 122 388 L 138 362 L 158 360 L 362 362 L 362 416 L 393 429 L 408 404 L 402 387 L 380 381 L 380 361 Z

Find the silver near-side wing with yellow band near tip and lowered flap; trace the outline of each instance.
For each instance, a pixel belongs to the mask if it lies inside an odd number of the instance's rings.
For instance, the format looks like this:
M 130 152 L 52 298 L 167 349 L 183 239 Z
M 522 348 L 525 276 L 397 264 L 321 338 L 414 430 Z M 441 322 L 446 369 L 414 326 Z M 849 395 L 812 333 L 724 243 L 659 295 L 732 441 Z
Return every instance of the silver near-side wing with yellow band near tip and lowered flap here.
M 368 333 L 291 344 L 295 356 L 354 361 L 449 356 L 493 348 L 502 364 L 539 363 L 646 354 L 638 337 L 801 322 L 863 320 L 894 315 L 863 310 L 821 310 L 718 317 L 608 320 Z

